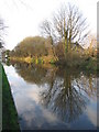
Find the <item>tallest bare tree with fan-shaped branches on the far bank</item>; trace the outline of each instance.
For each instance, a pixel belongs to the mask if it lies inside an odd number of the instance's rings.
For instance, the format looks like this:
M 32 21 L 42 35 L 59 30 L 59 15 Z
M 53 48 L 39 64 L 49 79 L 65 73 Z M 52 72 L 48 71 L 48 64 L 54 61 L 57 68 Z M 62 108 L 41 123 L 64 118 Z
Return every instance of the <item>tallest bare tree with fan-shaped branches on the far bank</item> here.
M 72 44 L 82 43 L 89 33 L 86 19 L 77 7 L 70 4 L 62 7 L 54 15 L 54 26 L 61 40 L 64 41 L 66 52 L 72 48 Z

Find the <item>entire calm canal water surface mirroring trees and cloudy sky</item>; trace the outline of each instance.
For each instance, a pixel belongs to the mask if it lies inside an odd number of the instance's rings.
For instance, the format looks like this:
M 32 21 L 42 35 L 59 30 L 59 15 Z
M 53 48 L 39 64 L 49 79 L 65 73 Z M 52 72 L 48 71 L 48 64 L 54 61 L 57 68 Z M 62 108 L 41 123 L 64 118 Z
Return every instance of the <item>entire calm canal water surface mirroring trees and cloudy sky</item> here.
M 97 129 L 97 77 L 82 72 L 3 64 L 21 130 Z

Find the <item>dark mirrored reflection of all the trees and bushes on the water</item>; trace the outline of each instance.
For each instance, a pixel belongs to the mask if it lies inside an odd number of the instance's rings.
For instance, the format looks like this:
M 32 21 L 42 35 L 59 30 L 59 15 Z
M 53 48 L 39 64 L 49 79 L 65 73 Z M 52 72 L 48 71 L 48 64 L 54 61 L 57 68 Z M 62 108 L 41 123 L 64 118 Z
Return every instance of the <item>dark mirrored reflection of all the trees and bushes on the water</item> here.
M 41 105 L 63 122 L 78 120 L 90 98 L 97 96 L 97 76 L 91 73 L 26 63 L 12 62 L 11 65 L 25 81 L 42 86 Z

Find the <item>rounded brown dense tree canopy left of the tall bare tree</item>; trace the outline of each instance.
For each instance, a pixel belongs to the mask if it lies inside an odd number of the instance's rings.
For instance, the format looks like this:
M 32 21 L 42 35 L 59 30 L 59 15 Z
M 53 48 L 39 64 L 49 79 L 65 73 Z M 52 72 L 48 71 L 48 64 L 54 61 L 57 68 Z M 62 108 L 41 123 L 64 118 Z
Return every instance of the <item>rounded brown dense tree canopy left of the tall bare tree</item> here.
M 11 55 L 15 56 L 43 56 L 46 55 L 45 38 L 41 36 L 30 36 L 20 42 Z

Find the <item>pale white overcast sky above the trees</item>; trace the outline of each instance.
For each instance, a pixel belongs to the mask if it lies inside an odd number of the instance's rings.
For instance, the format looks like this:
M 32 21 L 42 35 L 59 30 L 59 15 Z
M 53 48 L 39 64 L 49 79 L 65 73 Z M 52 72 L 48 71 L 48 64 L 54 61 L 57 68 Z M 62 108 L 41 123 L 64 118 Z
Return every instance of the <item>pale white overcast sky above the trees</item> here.
M 23 3 L 21 2 L 23 1 Z M 92 34 L 97 33 L 98 0 L 0 0 L 0 16 L 4 20 L 7 35 L 6 47 L 12 50 L 26 36 L 40 35 L 41 22 L 53 15 L 62 3 L 73 3 L 79 8 L 90 25 Z M 26 4 L 26 6 L 25 6 Z

